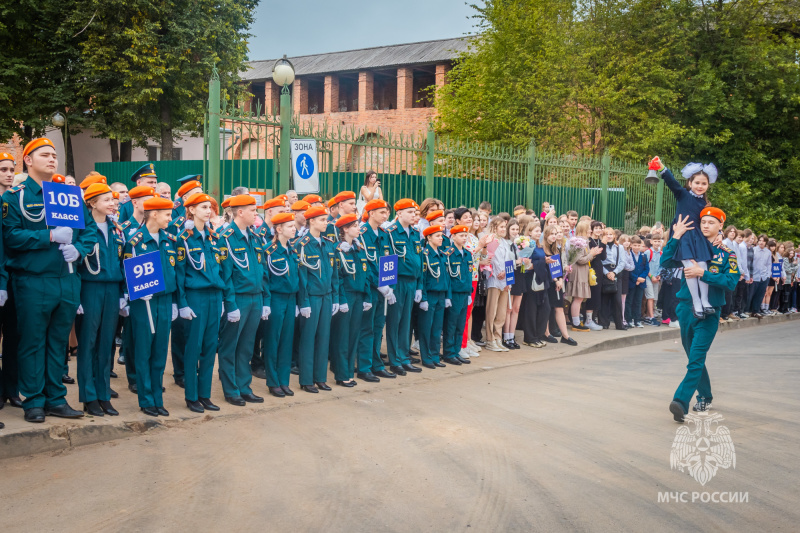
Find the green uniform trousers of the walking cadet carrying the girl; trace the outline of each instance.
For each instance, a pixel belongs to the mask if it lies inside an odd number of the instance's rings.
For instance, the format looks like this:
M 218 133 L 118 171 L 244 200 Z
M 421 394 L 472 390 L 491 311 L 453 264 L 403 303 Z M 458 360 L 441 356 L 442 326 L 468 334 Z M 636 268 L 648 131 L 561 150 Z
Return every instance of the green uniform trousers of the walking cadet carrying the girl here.
M 689 364 L 686 365 L 686 376 L 675 391 L 673 399 L 681 403 L 685 413 L 689 412 L 694 391 L 697 391 L 697 401 L 709 403 L 712 399 L 711 380 L 706 369 L 706 354 L 719 329 L 720 308 L 715 309 L 717 312 L 704 320 L 695 318 L 691 302 L 681 300 L 675 310 L 681 325 L 681 343 L 689 358 Z

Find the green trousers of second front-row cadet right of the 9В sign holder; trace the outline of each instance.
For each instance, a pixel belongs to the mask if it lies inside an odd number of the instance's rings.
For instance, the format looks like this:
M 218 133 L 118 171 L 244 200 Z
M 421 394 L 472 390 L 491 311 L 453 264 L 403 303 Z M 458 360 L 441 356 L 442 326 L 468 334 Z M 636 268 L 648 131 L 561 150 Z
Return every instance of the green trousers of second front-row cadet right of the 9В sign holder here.
M 219 377 L 225 396 L 252 394 L 250 383 L 250 359 L 253 357 L 253 343 L 256 330 L 261 322 L 261 307 L 264 301 L 259 294 L 236 294 L 236 305 L 241 318 L 228 322 L 228 314 L 222 317 L 222 333 L 219 336 Z

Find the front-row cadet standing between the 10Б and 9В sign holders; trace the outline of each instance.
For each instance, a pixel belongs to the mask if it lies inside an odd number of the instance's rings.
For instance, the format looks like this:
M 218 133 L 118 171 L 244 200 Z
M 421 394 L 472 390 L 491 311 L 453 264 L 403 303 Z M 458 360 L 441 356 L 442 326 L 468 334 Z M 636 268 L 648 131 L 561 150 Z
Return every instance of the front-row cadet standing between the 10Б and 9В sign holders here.
M 105 183 L 89 185 L 83 195 L 96 224 L 97 244 L 83 258 L 78 331 L 78 398 L 93 416 L 119 414 L 111 405 L 111 358 L 114 332 L 125 308 L 122 228 L 114 222 L 114 198 Z M 126 314 L 126 312 L 123 312 Z

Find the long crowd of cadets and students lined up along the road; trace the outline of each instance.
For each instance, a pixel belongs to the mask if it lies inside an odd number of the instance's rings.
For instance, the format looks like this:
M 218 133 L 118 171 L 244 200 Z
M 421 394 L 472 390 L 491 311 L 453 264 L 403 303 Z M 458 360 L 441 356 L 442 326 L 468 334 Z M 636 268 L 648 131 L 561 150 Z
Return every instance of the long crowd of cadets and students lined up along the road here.
M 0 408 L 22 407 L 29 422 L 117 415 L 117 349 L 141 410 L 169 416 L 168 352 L 187 407 L 204 412 L 219 410 L 217 361 L 225 400 L 243 406 L 264 401 L 254 377 L 285 398 L 292 374 L 318 393 L 331 390 L 329 368 L 353 387 L 421 372 L 417 364 L 469 364 L 518 340 L 542 349 L 577 345 L 575 331 L 678 327 L 683 269 L 660 265 L 661 223 L 628 235 L 547 203 L 540 214 L 435 198 L 389 206 L 374 172 L 358 195 L 287 191 L 263 205 L 243 187 L 217 205 L 192 175 L 173 202 L 145 165 L 130 190 L 97 173 L 82 180 L 86 227 L 71 230 L 43 221 L 42 182 L 70 183 L 55 174 L 52 144 L 34 140 L 23 158 L 27 173 L 15 176 L 14 157 L 0 156 Z M 793 243 L 733 226 L 719 240 L 741 270 L 720 321 L 796 312 Z M 131 301 L 123 261 L 155 250 L 166 288 Z M 396 284 L 382 286 L 378 259 L 390 255 Z M 83 412 L 66 403 L 70 356 Z

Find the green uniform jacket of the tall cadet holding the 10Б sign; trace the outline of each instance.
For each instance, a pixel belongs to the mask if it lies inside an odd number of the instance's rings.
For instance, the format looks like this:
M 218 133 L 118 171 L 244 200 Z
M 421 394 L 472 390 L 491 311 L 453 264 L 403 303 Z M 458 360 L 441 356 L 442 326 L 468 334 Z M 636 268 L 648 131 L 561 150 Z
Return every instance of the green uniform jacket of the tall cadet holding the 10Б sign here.
M 25 213 L 31 218 L 37 218 L 42 213 L 44 209 L 42 187 L 33 178 L 29 177 L 3 195 L 3 245 L 6 268 L 10 272 L 17 271 L 28 276 L 69 276 L 69 266 L 64 261 L 61 250 L 58 249 L 58 243 L 50 242 L 50 228 L 45 224 L 44 217 L 39 222 L 28 220 L 20 204 L 24 204 Z M 97 224 L 94 223 L 86 206 L 83 207 L 83 219 L 86 227 L 74 229 L 72 232 L 72 244 L 80 253 L 75 267 L 92 251 L 97 242 L 95 234 Z

